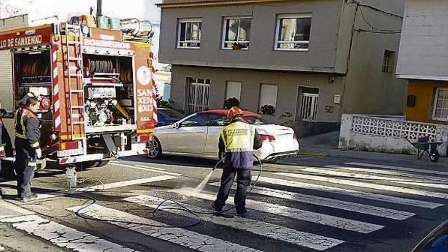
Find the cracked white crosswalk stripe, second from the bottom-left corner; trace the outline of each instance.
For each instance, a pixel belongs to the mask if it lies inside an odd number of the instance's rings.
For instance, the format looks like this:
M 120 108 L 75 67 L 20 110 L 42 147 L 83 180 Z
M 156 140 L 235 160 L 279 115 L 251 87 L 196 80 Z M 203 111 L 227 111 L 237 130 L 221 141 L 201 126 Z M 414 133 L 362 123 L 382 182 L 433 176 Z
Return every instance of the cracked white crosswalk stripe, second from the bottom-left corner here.
M 80 207 L 72 207 L 68 210 L 77 211 Z M 92 218 L 108 219 L 108 223 L 112 225 L 119 226 L 128 230 L 135 231 L 147 236 L 151 236 L 160 240 L 168 241 L 180 246 L 187 248 L 207 252 L 207 251 L 244 251 L 244 252 L 255 252 L 259 251 L 254 248 L 242 246 L 233 242 L 221 240 L 212 236 L 196 233 L 187 229 L 173 228 L 162 222 L 155 221 L 152 219 L 147 219 L 130 213 L 126 213 L 117 209 L 103 207 L 94 204 L 81 211 L 82 215 L 89 216 Z M 115 221 L 114 221 L 115 220 Z M 117 222 L 121 221 L 121 222 Z M 129 223 L 127 223 L 129 222 Z M 136 223 L 142 223 L 138 225 Z M 148 225 L 155 226 L 166 226 L 163 227 L 151 227 Z M 173 249 L 175 251 L 175 249 Z

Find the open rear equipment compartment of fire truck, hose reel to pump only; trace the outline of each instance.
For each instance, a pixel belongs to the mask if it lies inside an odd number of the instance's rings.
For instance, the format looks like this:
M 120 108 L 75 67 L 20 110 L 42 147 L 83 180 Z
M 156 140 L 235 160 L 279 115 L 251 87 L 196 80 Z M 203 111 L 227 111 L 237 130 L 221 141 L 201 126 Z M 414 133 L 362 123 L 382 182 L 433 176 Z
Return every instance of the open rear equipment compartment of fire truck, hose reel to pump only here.
M 132 58 L 83 54 L 83 63 L 86 132 L 129 129 L 135 124 Z

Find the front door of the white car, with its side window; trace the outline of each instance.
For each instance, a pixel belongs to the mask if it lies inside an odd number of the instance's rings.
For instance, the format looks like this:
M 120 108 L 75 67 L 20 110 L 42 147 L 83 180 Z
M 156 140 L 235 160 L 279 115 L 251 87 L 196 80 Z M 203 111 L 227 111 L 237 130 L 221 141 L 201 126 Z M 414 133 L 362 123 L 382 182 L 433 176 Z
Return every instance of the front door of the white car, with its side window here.
M 167 133 L 169 152 L 202 154 L 207 139 L 210 115 L 192 115 Z

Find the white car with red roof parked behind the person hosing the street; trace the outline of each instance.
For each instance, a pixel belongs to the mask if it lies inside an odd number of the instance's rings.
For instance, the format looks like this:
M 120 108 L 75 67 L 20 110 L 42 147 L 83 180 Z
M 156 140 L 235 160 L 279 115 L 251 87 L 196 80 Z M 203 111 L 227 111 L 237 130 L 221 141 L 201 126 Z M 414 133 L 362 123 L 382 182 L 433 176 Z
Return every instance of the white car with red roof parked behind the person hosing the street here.
M 173 125 L 157 127 L 155 139 L 149 143 L 149 158 L 162 154 L 219 159 L 218 143 L 221 130 L 229 124 L 225 109 L 202 111 Z M 263 140 L 255 152 L 261 160 L 275 161 L 297 155 L 299 143 L 294 130 L 266 122 L 260 115 L 244 111 L 244 119 L 254 125 Z

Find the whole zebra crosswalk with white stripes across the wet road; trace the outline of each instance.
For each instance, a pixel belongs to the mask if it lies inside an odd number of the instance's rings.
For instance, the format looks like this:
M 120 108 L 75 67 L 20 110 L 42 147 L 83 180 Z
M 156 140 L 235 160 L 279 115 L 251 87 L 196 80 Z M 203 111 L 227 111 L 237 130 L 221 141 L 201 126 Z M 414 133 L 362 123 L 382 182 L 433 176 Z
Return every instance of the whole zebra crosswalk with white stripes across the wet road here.
M 136 167 L 145 169 L 145 166 Z M 164 171 L 155 168 L 154 171 Z M 155 179 L 145 178 L 131 183 L 138 186 L 165 180 L 171 186 L 167 186 L 170 189 L 163 190 L 163 193 L 151 189 L 131 190 L 120 196 L 123 205 L 99 201 L 88 207 L 76 205 L 67 210 L 101 219 L 109 229 L 126 230 L 160 240 L 173 246 L 172 251 L 181 247 L 204 252 L 266 251 L 269 250 L 266 246 L 272 241 L 291 251 L 341 251 L 344 250 L 341 246 L 356 243 L 358 238 L 366 240 L 373 233 L 399 226 L 403 221 L 412 221 L 416 216 L 425 217 L 430 211 L 443 207 L 444 199 L 448 199 L 448 194 L 443 192 L 448 187 L 448 183 L 444 183 L 448 180 L 448 173 L 432 172 L 360 162 L 299 166 L 294 172 L 269 172 L 258 179 L 246 200 L 246 207 L 250 210 L 248 216 L 200 214 L 202 222 L 195 227 L 171 226 L 173 219 L 191 222 L 197 218 L 190 211 L 180 211 L 179 205 L 174 203 L 164 204 L 157 215 L 152 214 L 160 203 L 172 199 L 177 199 L 183 208 L 189 210 L 211 211 L 210 204 L 215 200 L 219 182 L 211 181 L 200 192 L 178 188 L 176 180 L 180 173 L 177 177 L 177 173 L 166 172 Z M 106 186 L 126 185 L 126 182 L 116 182 Z M 235 185 L 232 189 L 236 189 Z M 89 192 L 94 193 L 95 190 Z M 234 198 L 230 197 L 229 205 L 233 201 Z M 104 228 L 95 230 L 95 226 L 87 222 L 82 223 L 88 227 L 70 225 L 35 212 L 23 212 L 18 216 L 0 215 L 0 223 L 74 251 L 146 250 L 135 241 L 127 242 L 126 237 L 112 239 L 104 234 Z M 251 239 L 236 239 L 232 233 L 216 230 L 233 230 L 239 232 L 239 236 Z

